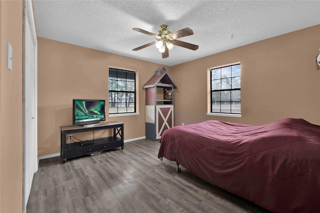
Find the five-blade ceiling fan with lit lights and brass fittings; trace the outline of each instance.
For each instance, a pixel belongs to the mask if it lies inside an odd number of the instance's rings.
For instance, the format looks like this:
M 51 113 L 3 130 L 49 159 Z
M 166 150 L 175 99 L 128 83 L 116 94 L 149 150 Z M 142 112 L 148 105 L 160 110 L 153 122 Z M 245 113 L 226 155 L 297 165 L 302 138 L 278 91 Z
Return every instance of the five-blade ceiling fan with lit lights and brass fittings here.
M 179 38 L 179 37 L 193 35 L 192 29 L 186 27 L 184 29 L 180 29 L 175 32 L 170 32 L 169 30 L 167 30 L 168 28 L 169 28 L 168 25 L 162 24 L 162 25 L 160 25 L 161 30 L 157 31 L 156 34 L 154 34 L 152 32 L 145 31 L 144 29 L 132 28 L 135 31 L 142 32 L 147 35 L 151 35 L 151 36 L 155 37 L 155 39 L 156 39 L 156 41 L 151 41 L 151 42 L 146 43 L 142 46 L 138 46 L 132 50 L 136 51 L 136 50 L 142 49 L 144 47 L 150 46 L 152 44 L 155 44 L 155 46 L 159 49 L 159 52 L 162 53 L 162 58 L 167 58 L 169 56 L 169 50 L 171 50 L 174 47 L 174 45 L 181 46 L 181 47 L 188 48 L 188 49 L 192 49 L 192 50 L 197 50 L 199 48 L 198 45 L 195 45 L 192 43 L 187 43 L 187 42 L 180 41 L 180 40 L 176 40 L 176 38 Z

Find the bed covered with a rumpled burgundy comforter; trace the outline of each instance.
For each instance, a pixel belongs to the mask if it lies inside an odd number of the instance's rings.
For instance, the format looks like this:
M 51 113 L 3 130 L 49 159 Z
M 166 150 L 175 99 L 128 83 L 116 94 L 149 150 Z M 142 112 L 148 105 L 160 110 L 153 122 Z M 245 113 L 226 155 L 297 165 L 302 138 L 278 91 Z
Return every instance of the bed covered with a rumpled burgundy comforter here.
M 220 120 L 174 126 L 158 158 L 273 212 L 320 211 L 320 126 L 285 118 L 264 125 Z

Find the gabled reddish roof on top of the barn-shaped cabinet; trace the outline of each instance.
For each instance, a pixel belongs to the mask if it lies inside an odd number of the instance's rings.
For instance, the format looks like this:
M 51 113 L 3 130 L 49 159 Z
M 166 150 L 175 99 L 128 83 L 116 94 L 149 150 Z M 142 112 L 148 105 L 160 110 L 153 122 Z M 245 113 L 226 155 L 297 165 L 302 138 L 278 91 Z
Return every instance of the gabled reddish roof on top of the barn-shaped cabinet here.
M 143 88 L 154 87 L 157 83 L 172 84 L 173 88 L 177 88 L 170 75 L 164 67 L 157 68 L 154 75 L 142 86 Z

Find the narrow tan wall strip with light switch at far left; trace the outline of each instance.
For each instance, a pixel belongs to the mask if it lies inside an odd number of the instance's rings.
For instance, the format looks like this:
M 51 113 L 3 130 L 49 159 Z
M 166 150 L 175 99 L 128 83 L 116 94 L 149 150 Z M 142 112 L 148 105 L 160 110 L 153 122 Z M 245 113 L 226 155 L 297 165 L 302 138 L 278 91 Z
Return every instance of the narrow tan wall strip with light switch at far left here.
M 6 67 L 6 42 L 12 71 Z M 0 1 L 0 212 L 22 211 L 22 1 Z

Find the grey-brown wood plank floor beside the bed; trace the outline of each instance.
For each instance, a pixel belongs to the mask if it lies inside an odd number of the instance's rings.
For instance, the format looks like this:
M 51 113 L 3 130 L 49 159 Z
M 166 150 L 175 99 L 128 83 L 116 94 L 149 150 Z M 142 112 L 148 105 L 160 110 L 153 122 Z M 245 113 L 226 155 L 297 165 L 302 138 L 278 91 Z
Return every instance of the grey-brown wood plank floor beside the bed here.
M 268 212 L 157 158 L 148 139 L 93 156 L 42 159 L 26 212 Z

